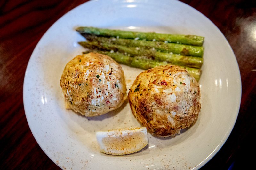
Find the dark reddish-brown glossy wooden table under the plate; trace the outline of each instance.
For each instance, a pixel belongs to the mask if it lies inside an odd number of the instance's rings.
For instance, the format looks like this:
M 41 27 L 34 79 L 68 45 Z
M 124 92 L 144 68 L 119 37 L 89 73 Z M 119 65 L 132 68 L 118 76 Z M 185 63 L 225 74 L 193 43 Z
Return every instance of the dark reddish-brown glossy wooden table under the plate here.
M 22 89 L 30 55 L 46 30 L 82 1 L 0 1 L 1 169 L 58 169 L 34 139 Z M 242 79 L 242 100 L 233 131 L 202 169 L 254 165 L 256 124 L 256 1 L 182 0 L 208 17 L 233 48 Z M 223 101 L 225 102 L 225 101 Z M 255 154 L 255 152 L 253 153 Z

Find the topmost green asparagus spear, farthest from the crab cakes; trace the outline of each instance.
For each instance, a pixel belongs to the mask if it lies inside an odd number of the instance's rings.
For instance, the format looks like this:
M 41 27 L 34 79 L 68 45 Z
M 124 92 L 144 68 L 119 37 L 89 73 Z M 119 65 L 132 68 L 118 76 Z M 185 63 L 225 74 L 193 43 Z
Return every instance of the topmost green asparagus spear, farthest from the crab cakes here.
M 132 32 L 132 31 L 121 31 L 121 30 L 109 30 L 95 27 L 78 27 L 76 29 L 79 33 L 94 34 L 106 37 L 117 37 L 125 39 L 145 39 L 148 41 L 167 41 L 173 43 L 181 43 L 188 45 L 202 46 L 204 37 L 196 35 L 180 35 L 180 34 L 161 34 L 161 33 L 143 33 L 143 32 Z

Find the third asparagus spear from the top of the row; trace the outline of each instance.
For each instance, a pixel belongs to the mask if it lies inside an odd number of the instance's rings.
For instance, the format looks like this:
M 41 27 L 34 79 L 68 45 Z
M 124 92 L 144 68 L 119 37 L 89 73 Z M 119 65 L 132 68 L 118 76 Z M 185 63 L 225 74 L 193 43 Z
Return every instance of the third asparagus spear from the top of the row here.
M 82 45 L 85 48 L 89 49 L 101 49 L 101 50 L 113 50 L 118 51 L 121 53 L 128 53 L 132 56 L 134 55 L 145 55 L 148 57 L 153 57 L 157 61 L 166 61 L 171 64 L 175 65 L 181 65 L 181 66 L 188 66 L 188 67 L 194 67 L 194 68 L 201 68 L 203 64 L 203 58 L 200 57 L 191 57 L 191 56 L 183 56 L 183 55 L 177 55 L 177 54 L 170 54 L 170 53 L 163 53 L 158 52 L 156 50 L 148 50 L 145 48 L 135 48 L 135 47 L 126 47 L 116 44 L 111 44 L 109 42 L 105 43 L 98 43 L 96 41 L 90 41 L 90 42 L 78 42 L 80 45 Z

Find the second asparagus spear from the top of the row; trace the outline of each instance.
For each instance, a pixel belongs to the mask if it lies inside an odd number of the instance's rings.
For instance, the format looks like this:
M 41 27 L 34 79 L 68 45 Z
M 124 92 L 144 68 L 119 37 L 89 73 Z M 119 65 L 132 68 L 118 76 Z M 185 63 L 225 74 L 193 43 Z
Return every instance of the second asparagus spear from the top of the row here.
M 191 55 L 196 57 L 203 57 L 204 47 L 164 43 L 159 41 L 146 41 L 146 40 L 131 40 L 121 38 L 106 38 L 97 37 L 95 35 L 83 34 L 88 41 L 98 41 L 101 43 L 112 43 L 122 46 L 132 46 L 138 48 L 156 49 L 162 52 L 172 52 L 180 55 Z

